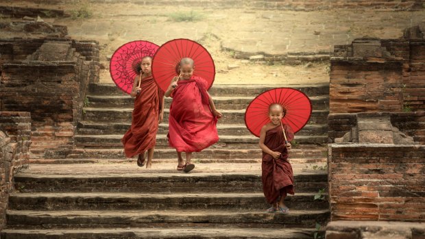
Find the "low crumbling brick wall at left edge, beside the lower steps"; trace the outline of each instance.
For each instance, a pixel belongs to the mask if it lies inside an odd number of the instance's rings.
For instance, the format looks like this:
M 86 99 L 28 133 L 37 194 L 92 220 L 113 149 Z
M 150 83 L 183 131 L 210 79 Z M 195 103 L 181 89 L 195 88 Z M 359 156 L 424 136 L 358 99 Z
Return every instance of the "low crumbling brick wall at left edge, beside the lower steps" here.
M 0 231 L 5 226 L 5 210 L 13 189 L 14 173 L 29 159 L 31 117 L 28 112 L 0 112 Z

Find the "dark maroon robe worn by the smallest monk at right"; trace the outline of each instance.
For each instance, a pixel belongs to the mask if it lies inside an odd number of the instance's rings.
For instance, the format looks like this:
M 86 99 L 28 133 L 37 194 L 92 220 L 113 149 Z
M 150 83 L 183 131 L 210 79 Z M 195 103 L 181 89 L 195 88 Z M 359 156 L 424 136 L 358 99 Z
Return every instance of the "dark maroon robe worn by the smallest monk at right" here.
M 287 140 L 293 140 L 293 131 L 291 127 L 284 125 Z M 274 127 L 266 132 L 264 144 L 271 151 L 282 153 L 280 158 L 275 160 L 268 153 L 263 152 L 263 162 L 261 164 L 263 181 L 263 192 L 270 204 L 275 203 L 280 196 L 294 194 L 293 190 L 293 172 L 292 166 L 288 162 L 288 149 L 285 146 L 282 127 Z

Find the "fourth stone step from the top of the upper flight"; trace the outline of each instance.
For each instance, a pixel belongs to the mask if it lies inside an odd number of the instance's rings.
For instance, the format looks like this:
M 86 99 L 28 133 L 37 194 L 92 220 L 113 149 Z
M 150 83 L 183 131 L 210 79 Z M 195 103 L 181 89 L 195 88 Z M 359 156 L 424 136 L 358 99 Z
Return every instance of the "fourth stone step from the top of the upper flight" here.
M 79 135 L 97 135 L 97 134 L 125 134 L 130 129 L 131 123 L 93 123 L 80 121 L 77 125 L 77 134 Z M 251 132 L 245 124 L 241 125 L 226 125 L 217 124 L 219 136 L 234 135 L 234 136 L 250 136 Z M 167 134 L 168 124 L 161 123 L 158 127 L 158 134 Z M 297 136 L 325 136 L 328 134 L 327 124 L 308 124 L 297 132 Z

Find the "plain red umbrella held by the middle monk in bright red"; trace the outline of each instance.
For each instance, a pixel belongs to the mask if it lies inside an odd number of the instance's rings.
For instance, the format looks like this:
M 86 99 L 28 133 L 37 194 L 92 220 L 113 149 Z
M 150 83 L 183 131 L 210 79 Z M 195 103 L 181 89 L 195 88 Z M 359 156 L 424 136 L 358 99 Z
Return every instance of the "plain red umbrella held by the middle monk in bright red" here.
M 173 77 L 178 76 L 178 65 L 182 58 L 192 58 L 195 62 L 195 77 L 202 77 L 208 82 L 208 89 L 215 77 L 214 60 L 210 53 L 197 42 L 189 39 L 174 39 L 162 45 L 152 61 L 152 75 L 158 86 L 167 90 Z

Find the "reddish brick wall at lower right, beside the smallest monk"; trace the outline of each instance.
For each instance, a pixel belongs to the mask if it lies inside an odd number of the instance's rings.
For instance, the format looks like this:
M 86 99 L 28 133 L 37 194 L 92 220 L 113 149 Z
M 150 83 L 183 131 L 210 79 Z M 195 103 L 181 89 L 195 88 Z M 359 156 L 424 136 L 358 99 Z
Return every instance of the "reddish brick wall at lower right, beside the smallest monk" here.
M 425 147 L 330 144 L 331 221 L 425 221 Z

